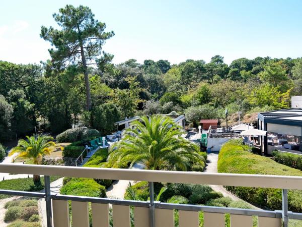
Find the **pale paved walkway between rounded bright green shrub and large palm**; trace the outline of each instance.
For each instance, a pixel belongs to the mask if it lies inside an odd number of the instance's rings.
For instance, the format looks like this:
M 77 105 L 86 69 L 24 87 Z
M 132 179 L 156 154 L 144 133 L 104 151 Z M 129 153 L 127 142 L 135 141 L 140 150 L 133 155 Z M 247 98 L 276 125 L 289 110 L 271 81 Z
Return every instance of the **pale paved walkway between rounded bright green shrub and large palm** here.
M 141 163 L 135 163 L 132 168 L 143 169 L 144 166 Z M 129 183 L 131 183 L 131 185 L 135 184 L 134 181 L 126 181 L 126 180 L 113 182 L 113 184 L 106 191 L 107 197 L 123 199 Z

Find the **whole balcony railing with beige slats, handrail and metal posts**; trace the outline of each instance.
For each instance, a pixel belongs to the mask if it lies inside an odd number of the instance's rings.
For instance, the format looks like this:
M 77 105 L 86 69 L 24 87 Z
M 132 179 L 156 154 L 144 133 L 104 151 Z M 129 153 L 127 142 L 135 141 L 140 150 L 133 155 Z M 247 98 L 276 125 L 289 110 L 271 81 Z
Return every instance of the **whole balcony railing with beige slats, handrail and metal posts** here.
M 259 227 L 287 226 L 288 218 L 302 219 L 302 213 L 287 209 L 287 190 L 302 190 L 302 177 L 244 174 L 206 174 L 197 172 L 146 171 L 138 169 L 88 168 L 51 165 L 0 164 L 1 173 L 39 174 L 45 176 L 45 193 L 0 190 L 0 194 L 45 198 L 47 226 L 69 227 L 71 201 L 72 226 L 89 227 L 88 202 L 92 206 L 93 226 L 109 226 L 112 204 L 114 227 L 130 227 L 130 206 L 134 207 L 135 227 L 174 227 L 174 210 L 178 210 L 179 227 L 198 227 L 198 212 L 204 212 L 204 227 L 224 227 L 225 214 L 231 214 L 232 227 L 252 227 L 258 216 Z M 131 201 L 52 194 L 49 176 L 119 179 L 149 182 L 150 201 Z M 203 205 L 162 203 L 154 200 L 153 182 L 281 188 L 282 210 L 253 210 Z

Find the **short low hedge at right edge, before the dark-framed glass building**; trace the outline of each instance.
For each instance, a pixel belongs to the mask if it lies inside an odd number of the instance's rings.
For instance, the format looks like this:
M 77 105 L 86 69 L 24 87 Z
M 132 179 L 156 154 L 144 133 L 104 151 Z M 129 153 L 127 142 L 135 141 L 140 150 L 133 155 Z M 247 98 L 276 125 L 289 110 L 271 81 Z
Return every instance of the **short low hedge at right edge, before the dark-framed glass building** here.
M 273 151 L 272 156 L 276 162 L 302 171 L 302 155 Z

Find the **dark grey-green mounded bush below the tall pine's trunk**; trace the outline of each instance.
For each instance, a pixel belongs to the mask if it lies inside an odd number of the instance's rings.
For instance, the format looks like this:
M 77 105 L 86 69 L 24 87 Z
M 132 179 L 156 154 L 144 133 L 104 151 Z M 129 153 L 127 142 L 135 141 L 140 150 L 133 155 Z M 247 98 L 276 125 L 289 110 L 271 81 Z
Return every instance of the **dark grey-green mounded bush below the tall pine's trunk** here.
M 57 135 L 56 140 L 59 143 L 63 142 L 75 142 L 78 140 L 84 140 L 89 137 L 98 137 L 100 132 L 96 129 L 89 129 L 86 127 L 67 129 L 61 134 Z

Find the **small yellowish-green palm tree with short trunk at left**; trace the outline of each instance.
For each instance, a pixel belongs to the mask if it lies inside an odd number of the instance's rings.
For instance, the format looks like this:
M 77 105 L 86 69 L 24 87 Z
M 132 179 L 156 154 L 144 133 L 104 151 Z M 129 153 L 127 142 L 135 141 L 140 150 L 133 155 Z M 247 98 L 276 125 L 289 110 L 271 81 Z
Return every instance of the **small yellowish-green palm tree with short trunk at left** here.
M 55 148 L 55 143 L 52 141 L 51 136 L 39 135 L 37 138 L 34 136 L 26 136 L 27 140 L 20 139 L 18 145 L 13 147 L 9 156 L 18 153 L 16 157 L 24 157 L 30 159 L 34 164 L 41 164 L 42 157 L 49 155 Z M 40 176 L 34 175 L 35 185 L 41 184 Z

